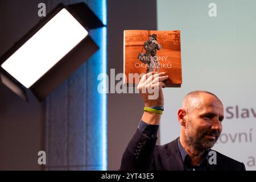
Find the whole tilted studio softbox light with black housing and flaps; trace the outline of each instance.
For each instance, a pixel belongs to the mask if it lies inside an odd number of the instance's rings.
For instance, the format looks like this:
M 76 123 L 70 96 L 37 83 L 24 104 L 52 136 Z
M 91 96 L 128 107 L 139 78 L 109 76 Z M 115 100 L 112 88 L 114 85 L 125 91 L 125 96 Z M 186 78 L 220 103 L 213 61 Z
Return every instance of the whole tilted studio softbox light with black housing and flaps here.
M 2 83 L 22 98 L 30 89 L 43 100 L 97 51 L 89 31 L 99 27 L 85 3 L 60 4 L 1 57 Z

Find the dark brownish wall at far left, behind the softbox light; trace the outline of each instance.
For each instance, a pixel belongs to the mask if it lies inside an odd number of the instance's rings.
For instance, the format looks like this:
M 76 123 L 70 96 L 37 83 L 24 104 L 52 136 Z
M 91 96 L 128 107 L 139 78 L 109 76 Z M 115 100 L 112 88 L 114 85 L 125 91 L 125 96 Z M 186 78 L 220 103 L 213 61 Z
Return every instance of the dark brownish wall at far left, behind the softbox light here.
M 38 23 L 39 2 L 0 1 L 0 56 Z M 31 95 L 25 102 L 0 84 L 0 169 L 42 169 L 37 160 L 44 150 L 44 103 Z

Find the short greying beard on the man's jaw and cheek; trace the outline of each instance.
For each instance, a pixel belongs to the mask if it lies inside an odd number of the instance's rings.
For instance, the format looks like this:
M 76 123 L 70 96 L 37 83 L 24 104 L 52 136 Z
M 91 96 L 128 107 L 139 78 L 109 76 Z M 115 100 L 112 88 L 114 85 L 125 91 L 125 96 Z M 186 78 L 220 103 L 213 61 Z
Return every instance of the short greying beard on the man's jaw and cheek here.
M 187 128 L 185 129 L 185 137 L 188 146 L 191 146 L 197 151 L 205 151 L 209 148 L 212 148 L 214 144 L 217 142 L 218 137 L 220 134 L 217 130 L 203 130 L 200 132 L 195 133 L 195 128 L 192 126 L 192 122 L 189 121 Z M 214 135 L 215 139 L 207 140 L 204 137 L 206 135 Z

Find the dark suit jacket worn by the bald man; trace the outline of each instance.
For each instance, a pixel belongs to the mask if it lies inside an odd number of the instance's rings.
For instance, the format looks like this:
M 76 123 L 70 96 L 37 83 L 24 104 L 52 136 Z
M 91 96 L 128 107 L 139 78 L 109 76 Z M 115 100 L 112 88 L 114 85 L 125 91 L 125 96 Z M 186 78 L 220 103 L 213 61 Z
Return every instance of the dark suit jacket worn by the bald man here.
M 156 145 L 157 138 L 150 138 L 137 129 L 123 153 L 120 170 L 170 170 L 184 171 L 177 139 Z M 225 155 L 217 154 L 217 164 L 208 165 L 209 171 L 236 170 L 244 171 L 245 165 Z

